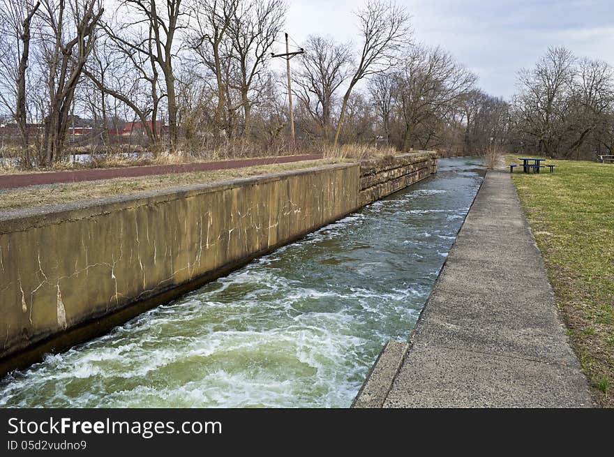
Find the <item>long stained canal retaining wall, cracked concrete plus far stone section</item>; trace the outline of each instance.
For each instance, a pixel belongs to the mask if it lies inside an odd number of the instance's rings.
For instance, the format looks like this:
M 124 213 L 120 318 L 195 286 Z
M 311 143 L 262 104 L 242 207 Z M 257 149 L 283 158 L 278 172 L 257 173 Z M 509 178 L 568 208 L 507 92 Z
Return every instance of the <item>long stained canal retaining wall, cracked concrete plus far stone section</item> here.
M 428 154 L 0 212 L 0 374 L 427 177 Z

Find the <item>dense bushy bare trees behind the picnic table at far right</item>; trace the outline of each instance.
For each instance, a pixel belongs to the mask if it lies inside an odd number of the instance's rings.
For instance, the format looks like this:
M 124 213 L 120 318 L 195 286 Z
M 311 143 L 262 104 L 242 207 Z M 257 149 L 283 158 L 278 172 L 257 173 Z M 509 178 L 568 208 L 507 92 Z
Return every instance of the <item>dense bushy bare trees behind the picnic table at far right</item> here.
M 551 47 L 518 73 L 510 142 L 548 157 L 614 153 L 614 72 L 599 60 Z

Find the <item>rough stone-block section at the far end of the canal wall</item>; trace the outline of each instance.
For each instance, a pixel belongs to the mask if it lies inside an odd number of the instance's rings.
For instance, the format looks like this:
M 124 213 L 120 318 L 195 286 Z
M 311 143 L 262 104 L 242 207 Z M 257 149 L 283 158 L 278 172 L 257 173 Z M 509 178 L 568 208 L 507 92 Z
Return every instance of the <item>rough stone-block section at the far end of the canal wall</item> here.
M 380 200 L 437 172 L 433 152 L 364 160 L 360 163 L 361 206 Z

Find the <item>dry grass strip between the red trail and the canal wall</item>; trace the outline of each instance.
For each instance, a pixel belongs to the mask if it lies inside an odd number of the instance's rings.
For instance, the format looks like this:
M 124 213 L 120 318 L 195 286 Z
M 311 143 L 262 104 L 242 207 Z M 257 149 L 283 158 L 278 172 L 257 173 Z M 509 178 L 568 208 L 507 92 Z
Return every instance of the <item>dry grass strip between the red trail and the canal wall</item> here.
M 258 165 L 255 167 L 219 170 L 214 172 L 195 172 L 181 174 L 160 174 L 140 178 L 117 178 L 80 183 L 53 184 L 0 190 L 0 211 L 24 207 L 38 207 L 45 204 L 58 204 L 109 197 L 112 195 L 133 195 L 145 190 L 159 190 L 186 184 L 223 181 L 224 179 L 251 177 L 272 174 L 287 170 L 331 165 L 340 160 L 332 158 L 308 160 L 304 162 Z

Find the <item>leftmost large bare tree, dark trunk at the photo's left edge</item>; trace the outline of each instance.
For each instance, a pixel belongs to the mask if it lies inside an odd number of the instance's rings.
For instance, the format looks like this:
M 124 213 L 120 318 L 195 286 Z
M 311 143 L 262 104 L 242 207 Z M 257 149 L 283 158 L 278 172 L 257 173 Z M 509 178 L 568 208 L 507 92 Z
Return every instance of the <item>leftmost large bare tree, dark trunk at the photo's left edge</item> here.
M 30 57 L 31 22 L 40 7 L 40 0 L 3 0 L 0 5 L 0 101 L 15 118 L 24 163 L 29 167 L 26 72 Z

